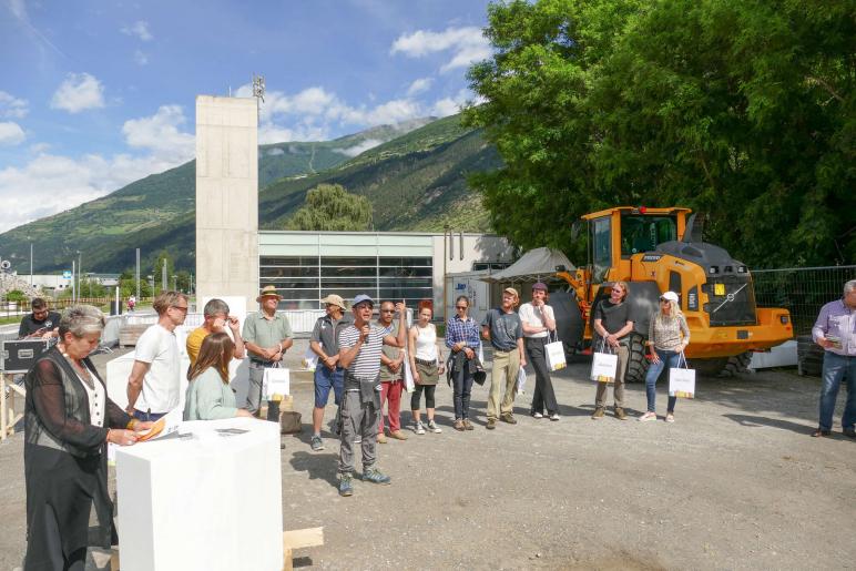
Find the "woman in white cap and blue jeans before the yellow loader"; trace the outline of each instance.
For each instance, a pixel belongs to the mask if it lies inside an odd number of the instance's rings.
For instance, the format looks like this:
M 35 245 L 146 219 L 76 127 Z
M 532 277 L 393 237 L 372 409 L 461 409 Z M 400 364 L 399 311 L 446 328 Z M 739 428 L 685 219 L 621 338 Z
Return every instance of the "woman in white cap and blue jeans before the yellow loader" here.
M 663 369 L 677 368 L 684 348 L 690 345 L 690 327 L 684 314 L 677 305 L 677 294 L 666 292 L 660 296 L 660 309 L 651 316 L 648 328 L 648 346 L 651 347 L 651 366 L 645 376 L 645 392 L 648 395 L 648 412 L 639 418 L 640 422 L 656 420 L 654 401 L 656 399 L 656 381 Z M 665 421 L 674 422 L 674 405 L 676 397 L 669 397 Z

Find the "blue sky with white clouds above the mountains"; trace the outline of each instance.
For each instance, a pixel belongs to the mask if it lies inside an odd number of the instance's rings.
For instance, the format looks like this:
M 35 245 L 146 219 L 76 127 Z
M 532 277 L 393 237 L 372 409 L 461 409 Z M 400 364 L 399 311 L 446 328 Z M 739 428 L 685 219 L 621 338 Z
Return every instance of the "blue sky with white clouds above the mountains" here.
M 0 0 L 0 232 L 192 159 L 195 96 L 253 72 L 262 143 L 455 113 L 487 4 Z

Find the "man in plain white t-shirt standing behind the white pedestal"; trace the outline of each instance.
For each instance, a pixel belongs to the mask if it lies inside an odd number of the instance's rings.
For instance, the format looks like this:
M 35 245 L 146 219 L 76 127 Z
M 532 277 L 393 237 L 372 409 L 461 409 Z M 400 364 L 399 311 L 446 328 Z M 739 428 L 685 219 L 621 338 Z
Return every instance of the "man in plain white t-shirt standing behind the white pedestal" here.
M 136 341 L 134 366 L 128 377 L 128 414 L 157 420 L 179 406 L 181 360 L 175 328 L 187 316 L 187 296 L 163 292 L 154 299 L 157 323 Z

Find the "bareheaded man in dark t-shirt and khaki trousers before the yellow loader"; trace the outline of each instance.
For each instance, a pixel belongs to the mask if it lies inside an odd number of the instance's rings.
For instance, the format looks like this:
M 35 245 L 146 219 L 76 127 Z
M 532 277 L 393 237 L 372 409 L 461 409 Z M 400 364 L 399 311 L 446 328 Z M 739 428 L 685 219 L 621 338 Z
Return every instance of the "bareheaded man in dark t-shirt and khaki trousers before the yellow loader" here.
M 626 343 L 622 343 L 633 330 L 633 320 L 630 315 L 630 304 L 628 304 L 628 284 L 615 282 L 610 290 L 610 298 L 604 299 L 594 309 L 594 333 L 597 336 L 592 340 L 592 350 L 594 353 L 614 353 L 618 354 L 618 370 L 615 371 L 615 388 L 613 397 L 615 398 L 615 418 L 626 420 L 624 412 L 624 371 L 628 368 L 629 348 Z M 607 383 L 598 383 L 598 392 L 594 397 L 594 414 L 591 416 L 594 420 L 603 418 L 607 397 Z

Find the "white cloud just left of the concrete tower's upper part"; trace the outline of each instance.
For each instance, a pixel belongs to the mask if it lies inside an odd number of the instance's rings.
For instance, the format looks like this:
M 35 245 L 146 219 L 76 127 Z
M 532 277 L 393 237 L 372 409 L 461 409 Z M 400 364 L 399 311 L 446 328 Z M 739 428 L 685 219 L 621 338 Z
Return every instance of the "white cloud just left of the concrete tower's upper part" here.
M 157 157 L 181 164 L 195 154 L 195 137 L 179 130 L 187 122 L 181 105 L 161 105 L 152 116 L 131 119 L 122 125 L 129 146 L 145 149 Z

